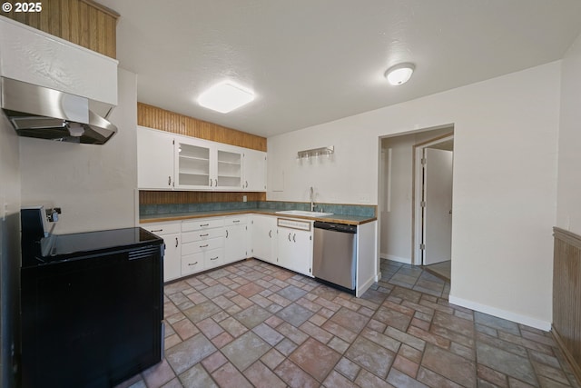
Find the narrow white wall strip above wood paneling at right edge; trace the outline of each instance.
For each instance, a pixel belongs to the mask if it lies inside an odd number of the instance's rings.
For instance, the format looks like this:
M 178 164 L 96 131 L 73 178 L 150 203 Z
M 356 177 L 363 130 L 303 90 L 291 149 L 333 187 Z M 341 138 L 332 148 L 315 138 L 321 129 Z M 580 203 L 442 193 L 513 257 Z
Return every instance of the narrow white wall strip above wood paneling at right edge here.
M 563 59 L 556 226 L 581 234 L 581 35 Z

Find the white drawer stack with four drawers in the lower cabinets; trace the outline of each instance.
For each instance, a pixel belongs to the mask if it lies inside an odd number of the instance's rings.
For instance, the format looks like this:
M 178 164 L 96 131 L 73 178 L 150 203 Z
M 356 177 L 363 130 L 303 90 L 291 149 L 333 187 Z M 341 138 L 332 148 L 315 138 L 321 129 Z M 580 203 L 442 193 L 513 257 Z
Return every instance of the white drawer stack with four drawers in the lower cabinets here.
M 224 219 L 182 221 L 182 276 L 224 264 Z

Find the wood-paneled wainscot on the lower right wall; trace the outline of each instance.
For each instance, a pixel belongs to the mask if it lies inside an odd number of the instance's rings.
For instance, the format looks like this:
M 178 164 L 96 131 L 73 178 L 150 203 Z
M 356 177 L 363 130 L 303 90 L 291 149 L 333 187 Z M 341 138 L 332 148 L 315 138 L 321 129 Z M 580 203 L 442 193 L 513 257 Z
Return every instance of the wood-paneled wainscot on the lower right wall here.
M 581 236 L 554 228 L 553 333 L 581 381 Z

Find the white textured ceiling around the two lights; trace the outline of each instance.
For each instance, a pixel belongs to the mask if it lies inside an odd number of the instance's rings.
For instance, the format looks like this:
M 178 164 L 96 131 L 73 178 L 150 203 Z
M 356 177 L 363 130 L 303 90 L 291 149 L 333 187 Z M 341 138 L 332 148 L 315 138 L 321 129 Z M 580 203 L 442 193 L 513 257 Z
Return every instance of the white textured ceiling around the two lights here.
M 271 136 L 563 57 L 579 0 L 99 0 L 119 14 L 117 57 L 140 102 Z M 408 84 L 390 65 L 413 62 Z M 223 79 L 257 98 L 195 103 Z

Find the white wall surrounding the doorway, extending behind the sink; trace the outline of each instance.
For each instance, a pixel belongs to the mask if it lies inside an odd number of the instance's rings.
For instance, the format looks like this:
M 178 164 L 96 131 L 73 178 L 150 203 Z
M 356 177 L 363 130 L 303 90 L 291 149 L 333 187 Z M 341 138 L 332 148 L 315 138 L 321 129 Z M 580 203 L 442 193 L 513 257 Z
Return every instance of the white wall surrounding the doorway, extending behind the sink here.
M 378 204 L 379 136 L 454 124 L 450 301 L 548 329 L 560 61 L 268 139 L 269 200 Z M 405 87 L 405 86 L 404 86 Z M 336 145 L 335 161 L 296 152 Z

